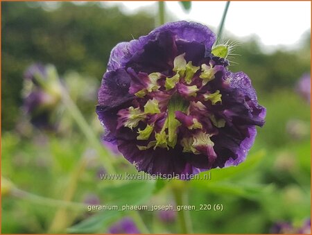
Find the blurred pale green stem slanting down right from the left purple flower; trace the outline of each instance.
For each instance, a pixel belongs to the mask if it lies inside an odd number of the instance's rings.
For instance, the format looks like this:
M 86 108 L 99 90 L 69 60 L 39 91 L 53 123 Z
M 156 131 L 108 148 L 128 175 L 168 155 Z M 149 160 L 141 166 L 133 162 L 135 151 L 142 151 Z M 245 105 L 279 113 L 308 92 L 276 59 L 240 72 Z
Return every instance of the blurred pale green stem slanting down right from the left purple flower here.
M 96 149 L 98 152 L 98 155 L 104 158 L 105 160 L 105 169 L 107 173 L 114 174 L 115 170 L 112 165 L 112 158 L 110 158 L 107 153 L 105 153 L 105 150 L 103 146 L 101 145 L 100 141 L 98 140 L 98 137 L 94 134 L 92 129 L 89 127 L 87 121 L 85 121 L 85 118 L 83 117 L 83 114 L 81 114 L 80 110 L 76 106 L 75 103 L 71 100 L 69 97 L 69 94 L 67 93 L 67 90 L 62 87 L 62 101 L 64 105 L 67 107 L 69 113 L 71 114 L 72 118 L 76 121 L 78 124 L 80 130 L 85 134 L 85 137 L 89 141 L 89 143 Z

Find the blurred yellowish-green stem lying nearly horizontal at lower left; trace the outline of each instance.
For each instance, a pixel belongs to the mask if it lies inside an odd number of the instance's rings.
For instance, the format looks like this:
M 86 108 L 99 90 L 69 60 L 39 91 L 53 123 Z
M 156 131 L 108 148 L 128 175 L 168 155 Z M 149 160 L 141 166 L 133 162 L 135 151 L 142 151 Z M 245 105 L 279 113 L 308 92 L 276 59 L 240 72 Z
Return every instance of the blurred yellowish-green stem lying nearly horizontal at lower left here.
M 43 204 L 48 205 L 51 207 L 67 207 L 74 210 L 79 211 L 85 211 L 87 204 L 83 203 L 77 203 L 77 202 L 66 202 L 63 200 L 55 200 L 52 198 L 44 198 L 40 195 L 35 195 L 33 193 L 28 193 L 26 191 L 23 191 L 21 189 L 12 189 L 12 195 L 14 195 L 17 198 L 21 198 L 24 200 L 30 200 L 32 202 L 35 202 L 37 204 Z

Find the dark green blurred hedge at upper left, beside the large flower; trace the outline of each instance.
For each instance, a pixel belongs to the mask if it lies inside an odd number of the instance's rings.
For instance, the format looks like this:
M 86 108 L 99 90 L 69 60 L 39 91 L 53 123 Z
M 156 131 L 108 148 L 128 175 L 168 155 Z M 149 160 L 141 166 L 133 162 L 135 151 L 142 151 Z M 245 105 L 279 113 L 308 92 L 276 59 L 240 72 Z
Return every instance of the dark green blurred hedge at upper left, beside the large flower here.
M 100 84 L 112 48 L 154 26 L 146 13 L 125 15 L 101 3 L 59 4 L 47 11 L 35 2 L 1 3 L 2 130 L 15 127 L 22 76 L 30 64 L 51 63 L 60 74 L 75 70 Z

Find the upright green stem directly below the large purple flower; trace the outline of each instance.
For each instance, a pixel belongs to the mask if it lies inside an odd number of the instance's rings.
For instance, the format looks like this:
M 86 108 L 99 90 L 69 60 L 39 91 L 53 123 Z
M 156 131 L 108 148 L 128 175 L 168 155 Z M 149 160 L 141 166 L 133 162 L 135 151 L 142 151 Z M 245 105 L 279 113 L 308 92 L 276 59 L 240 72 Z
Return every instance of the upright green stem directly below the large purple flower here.
M 187 182 L 173 182 L 172 190 L 175 198 L 175 204 L 177 206 L 188 205 L 188 189 Z M 177 211 L 177 219 L 180 224 L 181 234 L 192 234 L 191 216 L 189 210 Z

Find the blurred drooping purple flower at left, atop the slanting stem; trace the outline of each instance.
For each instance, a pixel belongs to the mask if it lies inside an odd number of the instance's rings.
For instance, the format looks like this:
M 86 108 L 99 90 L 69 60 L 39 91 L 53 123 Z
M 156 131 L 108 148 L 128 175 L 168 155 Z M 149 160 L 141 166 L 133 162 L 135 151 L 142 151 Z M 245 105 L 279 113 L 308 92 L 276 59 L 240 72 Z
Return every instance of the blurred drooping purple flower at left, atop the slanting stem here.
M 33 64 L 25 73 L 23 110 L 37 128 L 54 129 L 50 119 L 55 106 L 60 101 L 60 90 L 55 79 L 50 78 L 52 67 Z

